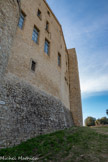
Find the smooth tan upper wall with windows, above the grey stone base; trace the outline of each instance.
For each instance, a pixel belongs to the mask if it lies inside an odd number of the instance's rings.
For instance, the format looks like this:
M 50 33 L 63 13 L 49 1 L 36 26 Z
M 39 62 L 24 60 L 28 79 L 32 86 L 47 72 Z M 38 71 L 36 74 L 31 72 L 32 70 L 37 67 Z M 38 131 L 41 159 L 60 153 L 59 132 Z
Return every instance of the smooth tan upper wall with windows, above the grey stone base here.
M 41 19 L 37 16 L 38 9 Z M 44 0 L 22 0 L 21 10 L 26 15 L 24 26 L 22 30 L 17 27 L 7 73 L 58 97 L 69 109 L 68 56 L 61 26 Z M 49 32 L 45 30 L 46 21 Z M 34 25 L 39 30 L 38 43 L 32 40 Z M 44 52 L 45 39 L 50 42 L 49 56 Z M 58 66 L 58 53 L 61 54 L 61 67 Z M 35 72 L 31 71 L 31 60 L 36 62 Z

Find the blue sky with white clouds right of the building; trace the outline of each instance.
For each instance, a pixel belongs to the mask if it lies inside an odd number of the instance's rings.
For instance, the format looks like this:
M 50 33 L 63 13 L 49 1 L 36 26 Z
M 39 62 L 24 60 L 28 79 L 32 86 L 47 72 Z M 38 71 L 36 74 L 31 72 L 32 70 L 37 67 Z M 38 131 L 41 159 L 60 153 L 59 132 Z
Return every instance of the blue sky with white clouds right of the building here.
M 83 117 L 108 108 L 108 0 L 47 0 L 62 25 L 67 48 L 76 48 Z

